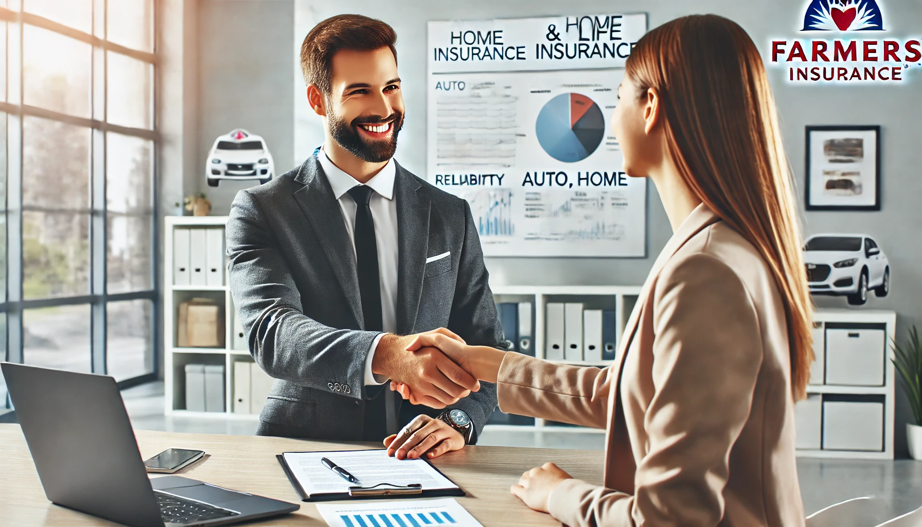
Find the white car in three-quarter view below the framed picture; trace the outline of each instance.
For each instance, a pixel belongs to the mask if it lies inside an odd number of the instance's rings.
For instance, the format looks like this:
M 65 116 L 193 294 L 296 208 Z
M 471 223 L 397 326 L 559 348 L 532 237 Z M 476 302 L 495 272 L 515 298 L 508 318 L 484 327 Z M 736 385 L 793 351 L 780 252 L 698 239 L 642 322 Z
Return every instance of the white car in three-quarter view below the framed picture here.
M 848 303 L 863 305 L 868 290 L 890 293 L 890 262 L 866 234 L 816 234 L 804 244 L 810 293 L 847 294 Z

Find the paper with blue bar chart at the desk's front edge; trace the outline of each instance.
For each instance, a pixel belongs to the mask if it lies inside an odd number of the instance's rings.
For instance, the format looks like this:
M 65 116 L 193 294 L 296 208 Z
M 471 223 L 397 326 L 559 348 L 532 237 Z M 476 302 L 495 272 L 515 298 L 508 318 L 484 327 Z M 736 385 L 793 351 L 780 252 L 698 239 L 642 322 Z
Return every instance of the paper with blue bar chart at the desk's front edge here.
M 452 498 L 372 504 L 318 504 L 331 527 L 482 527 Z

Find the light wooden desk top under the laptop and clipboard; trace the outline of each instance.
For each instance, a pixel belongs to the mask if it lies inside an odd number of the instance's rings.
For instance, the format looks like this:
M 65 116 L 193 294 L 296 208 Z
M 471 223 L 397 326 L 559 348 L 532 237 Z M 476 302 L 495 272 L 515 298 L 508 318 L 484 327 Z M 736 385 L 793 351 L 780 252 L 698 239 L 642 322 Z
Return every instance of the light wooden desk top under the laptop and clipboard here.
M 279 437 L 178 434 L 136 430 L 144 459 L 168 448 L 201 449 L 207 460 L 186 467 L 177 475 L 215 485 L 301 503 L 276 461 L 276 454 L 291 450 L 340 450 L 377 448 L 371 443 L 328 443 Z M 466 447 L 433 461 L 461 485 L 467 497 L 457 500 L 486 527 L 500 525 L 561 525 L 548 514 L 528 509 L 509 494 L 509 486 L 526 470 L 554 461 L 573 477 L 602 481 L 602 452 L 587 450 L 525 449 L 513 447 Z M 45 497 L 39 475 L 19 425 L 0 425 L 0 524 L 114 525 L 74 510 L 53 505 Z M 248 525 L 326 525 L 313 503 L 280 517 Z

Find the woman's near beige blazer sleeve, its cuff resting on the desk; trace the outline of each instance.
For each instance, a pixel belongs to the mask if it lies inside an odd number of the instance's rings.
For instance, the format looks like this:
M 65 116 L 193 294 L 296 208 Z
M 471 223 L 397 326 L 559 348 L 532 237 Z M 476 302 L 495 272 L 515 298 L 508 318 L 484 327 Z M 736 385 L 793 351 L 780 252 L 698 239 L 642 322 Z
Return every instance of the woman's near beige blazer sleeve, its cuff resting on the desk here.
M 571 527 L 714 526 L 724 516 L 730 453 L 762 365 L 755 306 L 733 269 L 706 254 L 668 264 L 654 294 L 655 394 L 634 494 L 564 482 L 550 513 Z

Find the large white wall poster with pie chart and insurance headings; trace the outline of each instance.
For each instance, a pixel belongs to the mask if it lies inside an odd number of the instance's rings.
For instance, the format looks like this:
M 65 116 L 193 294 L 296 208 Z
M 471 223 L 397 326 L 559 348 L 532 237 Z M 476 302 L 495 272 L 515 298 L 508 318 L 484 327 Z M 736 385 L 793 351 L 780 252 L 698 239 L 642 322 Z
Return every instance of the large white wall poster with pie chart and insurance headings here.
M 427 173 L 488 257 L 644 257 L 611 113 L 646 15 L 429 23 Z

